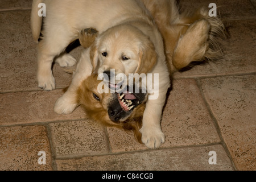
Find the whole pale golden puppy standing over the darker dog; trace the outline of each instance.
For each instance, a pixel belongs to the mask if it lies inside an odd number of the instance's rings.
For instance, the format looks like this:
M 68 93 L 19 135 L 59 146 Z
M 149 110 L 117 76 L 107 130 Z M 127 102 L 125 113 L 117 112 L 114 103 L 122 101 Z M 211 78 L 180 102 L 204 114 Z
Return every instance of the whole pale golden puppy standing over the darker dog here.
M 170 87 L 162 36 L 151 14 L 139 0 L 45 0 L 33 1 L 31 13 L 32 34 L 38 40 L 42 17 L 38 3 L 46 5 L 42 37 L 38 45 L 38 85 L 44 90 L 55 88 L 51 66 L 53 59 L 60 65 L 72 65 L 75 60 L 62 52 L 76 40 L 85 27 L 94 27 L 99 35 L 82 59 L 92 60 L 93 67 L 82 61 L 78 64 L 72 84 L 55 105 L 59 114 L 69 114 L 77 106 L 74 90 L 92 72 L 102 73 L 116 69 L 116 74 L 150 73 L 151 88 L 143 114 L 142 142 L 149 148 L 158 148 L 164 142 L 160 119 L 166 93 Z M 88 59 L 89 56 L 89 59 Z M 114 64 L 112 64 L 114 63 Z M 109 65 L 108 65 L 109 64 Z M 89 71 L 90 69 L 90 71 Z M 146 75 L 147 77 L 147 75 Z M 156 81 L 155 81 L 156 80 Z M 148 83 L 143 87 L 147 88 Z

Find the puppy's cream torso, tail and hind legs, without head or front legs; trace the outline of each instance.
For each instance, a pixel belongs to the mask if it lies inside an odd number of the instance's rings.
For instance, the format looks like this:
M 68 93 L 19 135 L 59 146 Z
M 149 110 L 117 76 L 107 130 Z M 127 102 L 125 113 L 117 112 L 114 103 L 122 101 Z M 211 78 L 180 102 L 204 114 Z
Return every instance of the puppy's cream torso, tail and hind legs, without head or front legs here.
M 36 41 L 40 35 L 39 24 L 42 19 L 36 14 L 39 2 L 34 1 L 31 15 L 32 34 Z M 43 37 L 38 46 L 38 84 L 44 90 L 55 89 L 55 79 L 51 73 L 53 59 L 59 56 L 69 43 L 79 38 L 79 32 L 85 27 L 94 27 L 99 34 L 120 24 L 137 27 L 154 44 L 159 56 L 158 63 L 165 64 L 162 36 L 141 1 L 45 0 L 42 2 L 46 4 L 47 15 L 44 19 Z M 70 55 L 63 55 L 57 59 L 57 63 L 72 65 L 75 60 L 71 59 Z

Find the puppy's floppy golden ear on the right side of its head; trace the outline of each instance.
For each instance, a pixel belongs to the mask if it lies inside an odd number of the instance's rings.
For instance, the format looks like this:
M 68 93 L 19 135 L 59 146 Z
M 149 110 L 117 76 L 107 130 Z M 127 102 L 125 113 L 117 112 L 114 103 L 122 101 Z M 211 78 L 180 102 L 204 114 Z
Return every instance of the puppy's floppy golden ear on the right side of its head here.
M 139 50 L 139 63 L 135 73 L 141 74 L 150 72 L 156 64 L 157 59 L 158 56 L 152 42 L 145 44 L 145 46 Z

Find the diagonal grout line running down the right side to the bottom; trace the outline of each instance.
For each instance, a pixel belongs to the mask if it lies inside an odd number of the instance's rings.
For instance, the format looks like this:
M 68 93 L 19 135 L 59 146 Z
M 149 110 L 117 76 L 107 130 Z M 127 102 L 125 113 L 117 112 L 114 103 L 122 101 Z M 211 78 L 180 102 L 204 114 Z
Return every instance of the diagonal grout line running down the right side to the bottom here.
M 218 137 L 220 137 L 220 140 L 221 140 L 220 143 L 224 147 L 224 150 L 225 150 L 226 154 L 228 155 L 228 157 L 230 159 L 230 162 L 232 163 L 233 168 L 237 171 L 237 167 L 236 167 L 236 164 L 234 163 L 234 159 L 232 158 L 232 155 L 231 155 L 231 153 L 230 153 L 230 151 L 228 149 L 228 146 L 226 145 L 225 140 L 222 137 L 220 126 L 218 125 L 218 121 L 217 121 L 216 117 L 214 116 L 214 114 L 212 112 L 212 109 L 210 108 L 210 105 L 207 102 L 207 99 L 205 98 L 205 94 L 203 93 L 203 89 L 201 87 L 201 79 L 202 78 L 195 79 L 197 87 L 200 89 L 201 97 L 203 98 L 204 104 L 207 107 L 207 110 L 209 112 L 210 118 L 212 118 L 213 125 L 214 125 L 214 127 L 215 127 L 215 129 L 217 130 L 217 133 L 218 133 Z

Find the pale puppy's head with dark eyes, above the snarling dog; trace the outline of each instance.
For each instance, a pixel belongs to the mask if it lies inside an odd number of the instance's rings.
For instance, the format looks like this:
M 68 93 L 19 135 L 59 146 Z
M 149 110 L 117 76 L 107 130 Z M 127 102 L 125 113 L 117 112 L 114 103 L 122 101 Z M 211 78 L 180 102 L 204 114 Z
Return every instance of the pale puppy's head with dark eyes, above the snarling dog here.
M 155 47 L 148 36 L 130 25 L 109 28 L 90 49 L 93 73 L 115 69 L 115 74 L 148 73 L 156 64 Z

